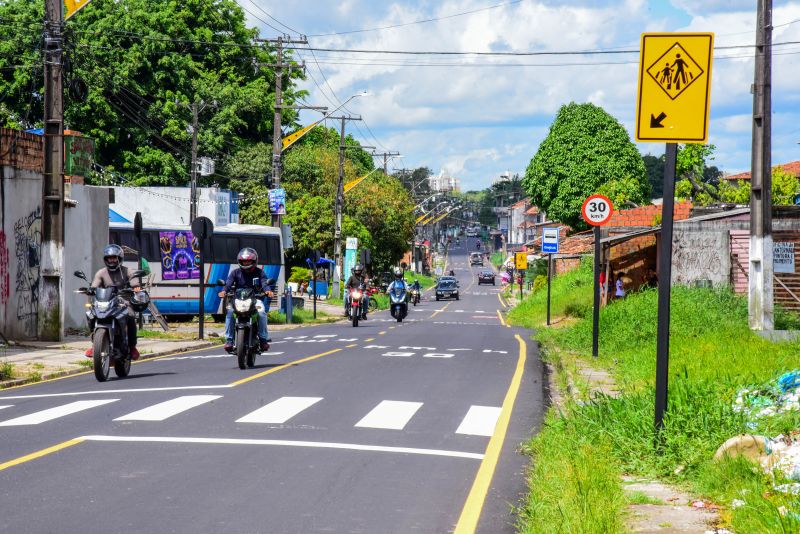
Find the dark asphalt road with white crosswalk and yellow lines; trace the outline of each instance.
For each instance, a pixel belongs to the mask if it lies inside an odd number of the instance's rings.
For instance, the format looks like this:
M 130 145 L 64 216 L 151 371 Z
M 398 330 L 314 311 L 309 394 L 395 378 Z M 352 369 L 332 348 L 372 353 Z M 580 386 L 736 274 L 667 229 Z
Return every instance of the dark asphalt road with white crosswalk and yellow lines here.
M 206 349 L 0 392 L 0 531 L 513 532 L 542 365 L 466 252 L 459 301 L 276 333 L 255 369 Z

